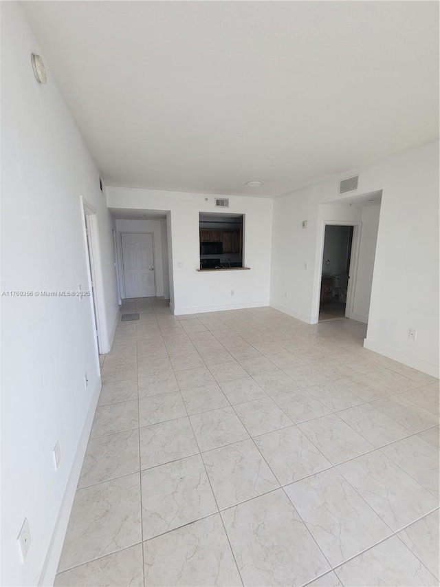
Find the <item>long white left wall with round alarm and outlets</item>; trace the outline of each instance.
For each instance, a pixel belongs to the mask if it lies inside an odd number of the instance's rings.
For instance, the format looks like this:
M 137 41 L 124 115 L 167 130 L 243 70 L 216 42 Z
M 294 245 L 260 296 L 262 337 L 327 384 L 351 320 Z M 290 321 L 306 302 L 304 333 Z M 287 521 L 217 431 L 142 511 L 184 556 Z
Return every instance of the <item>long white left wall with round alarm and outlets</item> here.
M 111 333 L 118 315 L 111 217 L 50 68 L 47 85 L 34 78 L 32 52 L 41 50 L 19 4 L 2 2 L 1 290 L 87 288 L 83 195 L 98 214 L 103 313 Z M 100 389 L 91 304 L 89 298 L 1 297 L 1 318 L 1 584 L 43 580 L 48 551 L 50 583 Z M 16 539 L 25 517 L 32 543 L 22 564 Z

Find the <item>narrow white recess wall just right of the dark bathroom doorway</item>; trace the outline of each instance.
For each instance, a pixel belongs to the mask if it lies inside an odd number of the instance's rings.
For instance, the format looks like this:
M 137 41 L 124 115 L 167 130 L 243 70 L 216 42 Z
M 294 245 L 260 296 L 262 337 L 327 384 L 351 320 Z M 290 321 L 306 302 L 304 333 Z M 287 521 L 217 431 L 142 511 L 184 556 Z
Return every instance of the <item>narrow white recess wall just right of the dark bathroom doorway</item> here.
M 358 275 L 353 299 L 353 319 L 364 323 L 367 323 L 369 319 L 379 217 L 380 204 L 362 208 L 362 231 L 360 235 Z

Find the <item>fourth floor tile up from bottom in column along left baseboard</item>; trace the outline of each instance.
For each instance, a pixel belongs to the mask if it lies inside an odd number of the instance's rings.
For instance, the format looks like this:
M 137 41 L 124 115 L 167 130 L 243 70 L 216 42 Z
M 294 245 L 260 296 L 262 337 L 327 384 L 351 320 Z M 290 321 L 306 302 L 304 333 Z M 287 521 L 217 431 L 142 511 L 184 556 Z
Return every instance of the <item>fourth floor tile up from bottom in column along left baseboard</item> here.
M 90 438 L 139 427 L 137 400 L 100 405 L 96 408 Z

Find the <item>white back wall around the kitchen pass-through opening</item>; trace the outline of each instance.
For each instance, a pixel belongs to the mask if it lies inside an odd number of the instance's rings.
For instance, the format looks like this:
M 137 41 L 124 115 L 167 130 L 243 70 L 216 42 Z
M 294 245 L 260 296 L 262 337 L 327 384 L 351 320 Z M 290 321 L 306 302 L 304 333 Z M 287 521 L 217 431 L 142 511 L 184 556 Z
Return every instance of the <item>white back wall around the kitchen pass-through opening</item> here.
M 272 200 L 230 197 L 228 212 L 245 215 L 244 262 L 249 271 L 198 272 L 199 212 L 215 212 L 214 196 L 121 187 L 107 188 L 112 209 L 169 211 L 175 314 L 267 306 L 270 290 Z M 168 243 L 169 244 L 169 243 Z M 234 296 L 231 295 L 234 291 Z

